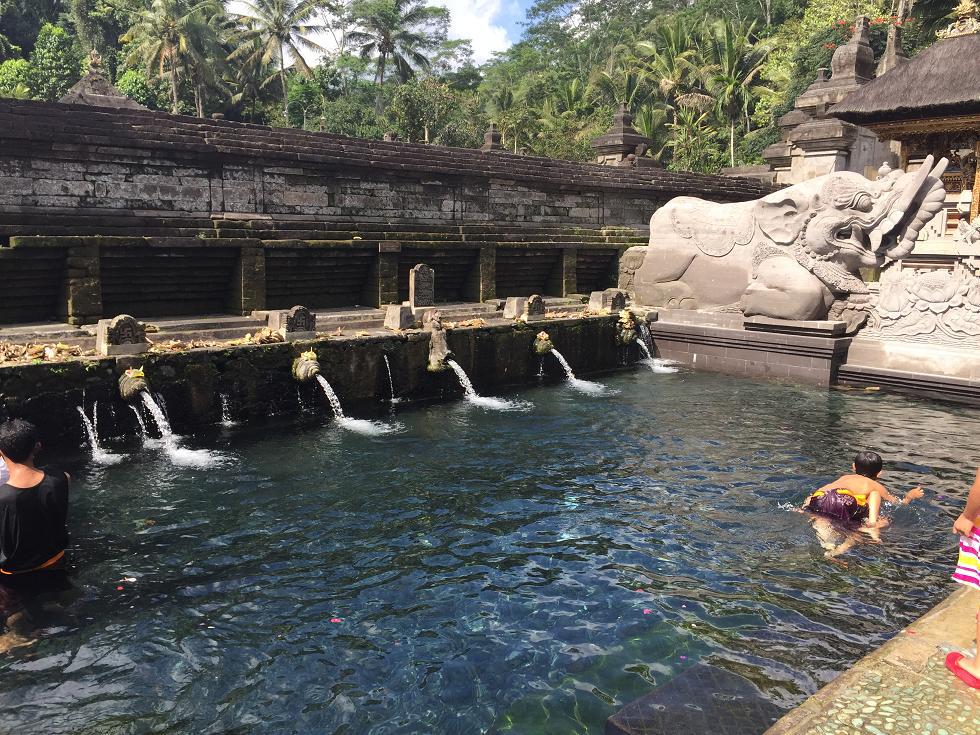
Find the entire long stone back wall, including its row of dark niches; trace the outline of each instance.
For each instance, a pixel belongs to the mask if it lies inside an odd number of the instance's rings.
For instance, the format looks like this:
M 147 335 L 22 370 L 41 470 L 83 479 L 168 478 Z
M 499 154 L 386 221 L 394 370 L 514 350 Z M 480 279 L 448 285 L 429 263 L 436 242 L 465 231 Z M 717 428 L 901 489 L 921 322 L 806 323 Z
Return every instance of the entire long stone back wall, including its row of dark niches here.
M 678 195 L 751 180 L 0 101 L 0 324 L 383 306 L 616 284 Z

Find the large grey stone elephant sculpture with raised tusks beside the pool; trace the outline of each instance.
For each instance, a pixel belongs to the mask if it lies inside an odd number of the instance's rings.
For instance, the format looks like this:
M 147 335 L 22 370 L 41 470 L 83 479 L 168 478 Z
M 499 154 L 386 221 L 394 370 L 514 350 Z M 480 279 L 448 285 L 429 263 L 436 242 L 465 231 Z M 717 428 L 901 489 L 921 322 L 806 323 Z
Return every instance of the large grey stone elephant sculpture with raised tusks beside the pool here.
M 848 171 L 735 204 L 678 197 L 650 219 L 636 301 L 675 309 L 827 319 L 868 293 L 859 269 L 912 252 L 943 206 L 946 159 L 877 181 Z M 846 309 L 836 308 L 841 313 Z

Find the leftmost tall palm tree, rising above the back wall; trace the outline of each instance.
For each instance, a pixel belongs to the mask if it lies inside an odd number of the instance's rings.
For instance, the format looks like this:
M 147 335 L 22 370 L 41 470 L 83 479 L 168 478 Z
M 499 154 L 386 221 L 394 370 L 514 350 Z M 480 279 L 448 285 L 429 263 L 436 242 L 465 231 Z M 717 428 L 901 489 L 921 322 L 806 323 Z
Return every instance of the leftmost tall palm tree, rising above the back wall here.
M 210 18 L 221 12 L 218 0 L 153 0 L 119 38 L 133 44 L 127 64 L 142 60 L 151 78 L 169 77 L 175 115 L 180 112 L 180 75 L 190 66 L 208 63 L 204 39 Z

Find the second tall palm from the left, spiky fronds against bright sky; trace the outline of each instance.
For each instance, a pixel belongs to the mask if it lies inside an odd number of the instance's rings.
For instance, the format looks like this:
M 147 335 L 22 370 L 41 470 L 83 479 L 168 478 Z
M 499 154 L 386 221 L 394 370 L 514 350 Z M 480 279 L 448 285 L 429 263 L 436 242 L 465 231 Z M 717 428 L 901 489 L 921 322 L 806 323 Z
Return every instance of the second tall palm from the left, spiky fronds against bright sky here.
M 264 82 L 268 84 L 276 76 L 282 84 L 282 109 L 288 115 L 289 84 L 286 81 L 286 52 L 292 56 L 299 70 L 310 74 L 310 67 L 303 58 L 302 50 L 324 52 L 326 49 L 310 36 L 327 30 L 325 25 L 314 22 L 324 6 L 323 0 L 240 0 L 244 13 L 238 16 L 243 26 L 243 45 L 229 58 L 246 55 L 257 56 L 263 65 L 276 62 L 278 69 Z M 254 61 L 254 59 L 253 59 Z

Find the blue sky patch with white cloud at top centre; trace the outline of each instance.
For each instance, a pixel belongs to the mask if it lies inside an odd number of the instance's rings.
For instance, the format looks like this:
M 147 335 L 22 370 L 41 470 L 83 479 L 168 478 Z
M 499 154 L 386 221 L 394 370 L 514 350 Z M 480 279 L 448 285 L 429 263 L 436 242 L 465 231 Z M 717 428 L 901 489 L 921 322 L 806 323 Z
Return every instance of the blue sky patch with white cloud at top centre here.
M 449 9 L 450 38 L 472 42 L 476 63 L 487 61 L 521 37 L 532 0 L 433 0 Z

